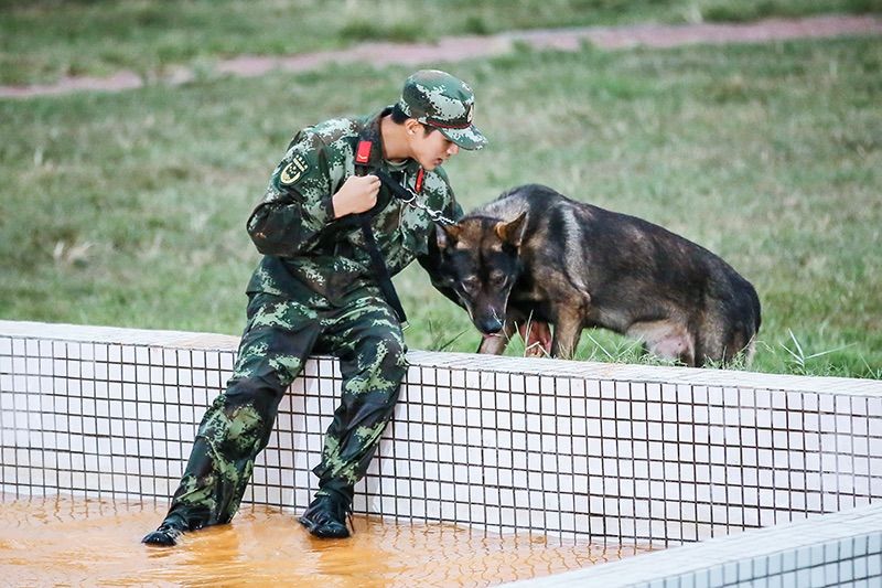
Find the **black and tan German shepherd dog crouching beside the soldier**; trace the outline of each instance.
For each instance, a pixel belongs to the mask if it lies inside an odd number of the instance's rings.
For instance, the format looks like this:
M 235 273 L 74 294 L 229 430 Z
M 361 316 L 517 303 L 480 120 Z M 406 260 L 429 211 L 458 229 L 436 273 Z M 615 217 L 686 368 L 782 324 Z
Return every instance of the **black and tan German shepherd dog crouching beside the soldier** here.
M 552 356 L 571 359 L 582 329 L 602 327 L 686 365 L 724 365 L 750 361 L 760 329 L 756 290 L 714 254 L 542 185 L 438 225 L 423 266 L 485 335 L 482 353 L 533 320 L 553 324 Z

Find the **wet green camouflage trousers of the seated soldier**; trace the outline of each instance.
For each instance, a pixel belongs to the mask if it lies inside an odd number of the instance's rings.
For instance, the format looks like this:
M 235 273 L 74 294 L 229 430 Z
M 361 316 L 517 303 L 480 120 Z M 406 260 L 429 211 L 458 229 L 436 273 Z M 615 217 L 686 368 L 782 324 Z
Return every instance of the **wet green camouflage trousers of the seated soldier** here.
M 405 351 L 398 319 L 378 296 L 316 310 L 251 295 L 233 377 L 200 425 L 166 521 L 180 517 L 191 530 L 229 522 L 267 446 L 279 402 L 312 352 L 337 356 L 343 375 L 341 404 L 313 470 L 318 494 L 352 500 L 395 409 Z

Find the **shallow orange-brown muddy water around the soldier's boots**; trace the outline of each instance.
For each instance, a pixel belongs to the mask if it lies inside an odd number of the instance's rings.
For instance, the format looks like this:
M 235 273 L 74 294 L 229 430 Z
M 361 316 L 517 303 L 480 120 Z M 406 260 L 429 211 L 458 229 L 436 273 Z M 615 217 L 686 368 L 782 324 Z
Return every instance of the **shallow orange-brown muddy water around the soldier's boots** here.
M 0 585 L 492 586 L 613 562 L 642 548 L 355 517 L 313 538 L 293 513 L 244 506 L 174 548 L 140 543 L 164 505 L 50 496 L 0 503 Z

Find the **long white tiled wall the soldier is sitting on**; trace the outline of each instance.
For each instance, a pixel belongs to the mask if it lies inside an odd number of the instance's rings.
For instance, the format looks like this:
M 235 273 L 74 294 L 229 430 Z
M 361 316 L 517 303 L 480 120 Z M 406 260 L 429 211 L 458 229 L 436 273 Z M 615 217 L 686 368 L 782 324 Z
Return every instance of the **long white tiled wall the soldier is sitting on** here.
M 168 500 L 236 338 L 0 321 L 2 490 Z M 676 544 L 882 498 L 882 383 L 412 352 L 356 511 Z M 302 509 L 336 406 L 315 359 L 247 500 Z

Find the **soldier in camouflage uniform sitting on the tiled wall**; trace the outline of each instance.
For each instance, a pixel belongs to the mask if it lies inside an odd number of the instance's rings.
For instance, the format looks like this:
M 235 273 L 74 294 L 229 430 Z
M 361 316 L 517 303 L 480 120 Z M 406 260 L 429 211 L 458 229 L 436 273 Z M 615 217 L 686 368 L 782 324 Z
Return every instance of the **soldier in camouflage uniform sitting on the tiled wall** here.
M 294 136 L 248 220 L 263 258 L 248 284 L 233 377 L 200 425 L 169 514 L 143 543 L 174 545 L 184 532 L 230 521 L 279 402 L 312 352 L 340 359 L 343 384 L 313 470 L 319 491 L 300 522 L 318 537 L 349 535 L 353 487 L 407 368 L 404 312 L 383 274 L 426 255 L 433 221 L 462 215 L 441 164 L 485 145 L 473 109 L 462 81 L 420 71 L 379 114 Z

